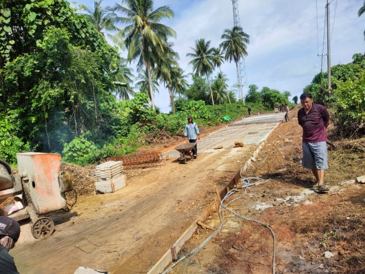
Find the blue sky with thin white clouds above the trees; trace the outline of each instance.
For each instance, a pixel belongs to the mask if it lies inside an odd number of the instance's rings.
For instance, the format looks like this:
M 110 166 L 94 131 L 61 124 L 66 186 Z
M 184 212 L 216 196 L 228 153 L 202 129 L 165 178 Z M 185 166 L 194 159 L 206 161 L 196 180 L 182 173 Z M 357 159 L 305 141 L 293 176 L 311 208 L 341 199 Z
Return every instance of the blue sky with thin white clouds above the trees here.
M 76 0 L 88 7 L 93 0 Z M 117 1 L 119 4 L 122 1 Z M 363 0 L 329 0 L 330 2 L 330 58 L 331 66 L 347 64 L 355 53 L 364 53 L 365 15 L 357 12 Z M 115 0 L 103 0 L 104 6 L 113 6 Z M 176 39 L 174 50 L 179 53 L 179 64 L 185 73 L 192 73 L 188 65 L 195 40 L 211 40 L 211 47 L 218 47 L 225 29 L 233 27 L 231 0 L 155 0 L 154 9 L 169 5 L 175 17 L 163 23 L 173 28 Z M 291 91 L 292 96 L 302 93 L 314 75 L 321 71 L 321 57 L 327 53 L 324 42 L 326 0 L 238 0 L 240 24 L 250 36 L 245 58 L 248 85 L 259 89 L 269 87 Z M 323 46 L 324 45 L 324 46 Z M 324 48 L 324 50 L 323 50 Z M 131 68 L 136 68 L 131 64 Z M 221 66 L 229 79 L 236 84 L 235 63 Z M 327 56 L 323 57 L 323 71 L 327 71 Z M 218 73 L 216 70 L 213 77 Z M 135 73 L 136 74 L 136 73 Z M 190 80 L 189 80 L 190 81 Z M 247 92 L 247 88 L 244 89 Z M 291 99 L 290 98 L 290 99 Z M 155 94 L 155 104 L 168 113 L 168 91 L 160 86 Z

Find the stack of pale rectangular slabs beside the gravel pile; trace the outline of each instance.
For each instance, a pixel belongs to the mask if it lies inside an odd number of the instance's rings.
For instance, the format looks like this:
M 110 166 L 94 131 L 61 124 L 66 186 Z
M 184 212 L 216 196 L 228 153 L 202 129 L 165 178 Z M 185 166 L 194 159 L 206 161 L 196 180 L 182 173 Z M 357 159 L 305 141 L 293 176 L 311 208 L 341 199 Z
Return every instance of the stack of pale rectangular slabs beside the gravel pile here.
M 96 191 L 115 192 L 127 184 L 126 175 L 123 174 L 122 161 L 99 164 L 95 166 L 95 171 L 98 179 L 98 182 L 95 183 Z

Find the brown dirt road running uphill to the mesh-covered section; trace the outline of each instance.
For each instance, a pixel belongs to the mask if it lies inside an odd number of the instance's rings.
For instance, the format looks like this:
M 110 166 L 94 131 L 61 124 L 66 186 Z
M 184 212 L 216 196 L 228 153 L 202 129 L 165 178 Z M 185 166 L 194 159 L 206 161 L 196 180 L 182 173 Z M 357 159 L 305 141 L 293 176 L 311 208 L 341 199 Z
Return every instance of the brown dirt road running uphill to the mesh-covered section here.
M 11 251 L 20 273 L 73 273 L 78 266 L 111 273 L 146 273 L 228 183 L 257 144 L 278 125 L 227 127 L 202 138 L 198 158 L 128 171 L 128 186 L 112 193 L 81 197 L 70 213 L 57 212 L 52 237 L 35 240 L 21 227 Z M 234 148 L 234 142 L 244 147 Z M 216 145 L 223 149 L 214 150 Z M 172 156 L 174 151 L 168 152 Z

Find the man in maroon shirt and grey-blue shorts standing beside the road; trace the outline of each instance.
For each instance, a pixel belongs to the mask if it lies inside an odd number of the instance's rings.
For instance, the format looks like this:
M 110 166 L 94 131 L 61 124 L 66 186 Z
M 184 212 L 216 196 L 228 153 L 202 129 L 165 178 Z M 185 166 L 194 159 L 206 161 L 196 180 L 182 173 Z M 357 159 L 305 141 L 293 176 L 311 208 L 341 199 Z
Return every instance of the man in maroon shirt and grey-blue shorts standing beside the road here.
M 323 182 L 327 163 L 327 127 L 329 113 L 325 107 L 313 104 L 312 95 L 300 95 L 302 109 L 298 111 L 298 123 L 303 128 L 303 159 L 302 166 L 312 170 L 318 183 L 319 191 L 327 191 Z

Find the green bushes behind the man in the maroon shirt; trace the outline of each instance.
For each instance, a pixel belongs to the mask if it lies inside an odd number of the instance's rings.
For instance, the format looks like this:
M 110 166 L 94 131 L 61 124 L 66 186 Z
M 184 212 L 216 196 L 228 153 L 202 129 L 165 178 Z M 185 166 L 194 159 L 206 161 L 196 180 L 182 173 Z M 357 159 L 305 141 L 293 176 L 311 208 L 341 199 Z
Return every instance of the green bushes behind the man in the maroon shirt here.
M 332 97 L 328 98 L 327 73 L 318 73 L 304 88 L 315 103 L 331 107 L 332 121 L 347 135 L 365 133 L 365 54 L 331 67 Z

